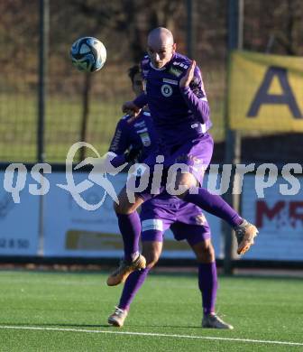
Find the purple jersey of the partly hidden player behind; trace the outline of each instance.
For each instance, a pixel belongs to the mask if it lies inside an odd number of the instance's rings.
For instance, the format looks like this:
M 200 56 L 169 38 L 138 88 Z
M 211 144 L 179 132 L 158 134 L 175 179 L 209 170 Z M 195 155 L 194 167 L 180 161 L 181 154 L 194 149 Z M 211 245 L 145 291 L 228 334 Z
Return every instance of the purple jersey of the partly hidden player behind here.
M 133 121 L 130 116 L 123 116 L 115 128 L 115 134 L 109 147 L 109 152 L 117 154 L 112 163 L 115 167 L 123 164 L 124 152 L 130 149 L 140 149 L 140 161 L 152 153 L 157 145 L 157 137 L 152 125 L 151 114 L 142 111 Z

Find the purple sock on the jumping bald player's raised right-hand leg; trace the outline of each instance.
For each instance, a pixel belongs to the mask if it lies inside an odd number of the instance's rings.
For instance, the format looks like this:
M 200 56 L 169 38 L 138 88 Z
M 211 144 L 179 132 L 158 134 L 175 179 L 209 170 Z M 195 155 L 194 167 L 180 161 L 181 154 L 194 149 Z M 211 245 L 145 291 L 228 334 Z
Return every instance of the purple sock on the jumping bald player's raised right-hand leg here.
M 188 192 L 183 200 L 196 204 L 218 218 L 223 218 L 231 227 L 236 227 L 243 222 L 243 218 L 222 197 L 211 194 L 206 189 L 199 188 L 197 194 Z

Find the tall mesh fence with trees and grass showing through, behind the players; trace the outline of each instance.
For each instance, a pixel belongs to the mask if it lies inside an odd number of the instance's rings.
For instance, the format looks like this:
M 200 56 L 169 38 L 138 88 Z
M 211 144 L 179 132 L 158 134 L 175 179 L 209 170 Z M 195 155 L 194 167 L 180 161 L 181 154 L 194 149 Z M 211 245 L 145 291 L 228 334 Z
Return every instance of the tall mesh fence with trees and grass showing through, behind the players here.
M 33 162 L 37 159 L 38 143 L 40 1 L 31 0 L 26 6 L 22 3 L 22 0 L 0 3 L 0 159 Z M 202 67 L 214 120 L 212 133 L 217 144 L 214 158 L 222 160 L 227 35 L 230 34 L 227 4 L 221 0 L 156 0 L 147 9 L 142 0 L 114 0 L 107 4 L 50 1 L 45 160 L 64 161 L 69 145 L 81 137 L 83 118 L 87 118 L 87 142 L 96 145 L 100 153 L 106 151 L 121 116 L 121 103 L 132 97 L 127 69 L 142 57 L 147 32 L 160 24 L 175 33 L 179 51 L 194 57 Z M 302 54 L 302 11 L 301 2 L 296 0 L 244 1 L 243 49 Z M 106 67 L 88 77 L 74 69 L 69 60 L 71 42 L 83 35 L 95 35 L 105 42 L 108 51 Z M 301 139 L 296 134 L 280 134 L 279 138 L 272 135 L 260 138 L 260 133 L 254 131 L 250 134 L 257 138 L 257 144 L 252 147 L 249 138 L 243 141 L 242 154 L 246 160 L 283 162 L 299 156 Z M 269 145 L 275 148 L 268 148 Z

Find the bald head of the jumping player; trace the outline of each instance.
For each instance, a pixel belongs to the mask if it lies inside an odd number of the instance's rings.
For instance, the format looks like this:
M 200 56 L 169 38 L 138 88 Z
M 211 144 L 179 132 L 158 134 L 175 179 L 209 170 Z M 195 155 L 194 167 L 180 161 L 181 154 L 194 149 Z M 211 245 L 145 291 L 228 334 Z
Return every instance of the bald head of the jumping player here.
M 172 33 L 164 27 L 158 27 L 149 33 L 147 38 L 147 52 L 156 69 L 161 69 L 168 63 L 176 51 Z

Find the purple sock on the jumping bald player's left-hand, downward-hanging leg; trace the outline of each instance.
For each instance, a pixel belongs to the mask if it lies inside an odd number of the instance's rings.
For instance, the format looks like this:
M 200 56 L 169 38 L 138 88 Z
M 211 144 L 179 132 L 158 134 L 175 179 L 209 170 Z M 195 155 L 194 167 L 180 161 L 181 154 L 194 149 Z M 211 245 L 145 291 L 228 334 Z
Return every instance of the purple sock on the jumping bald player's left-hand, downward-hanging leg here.
M 120 232 L 124 241 L 124 259 L 132 261 L 139 253 L 141 221 L 139 214 L 117 214 Z

